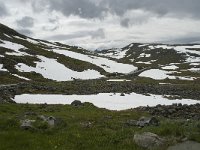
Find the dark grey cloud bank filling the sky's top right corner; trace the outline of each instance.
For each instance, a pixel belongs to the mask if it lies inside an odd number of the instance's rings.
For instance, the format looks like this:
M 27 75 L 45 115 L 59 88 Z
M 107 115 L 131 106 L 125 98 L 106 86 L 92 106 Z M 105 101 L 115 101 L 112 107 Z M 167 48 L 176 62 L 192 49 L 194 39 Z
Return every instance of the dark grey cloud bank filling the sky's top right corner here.
M 123 15 L 127 10 L 143 9 L 160 16 L 172 13 L 200 17 L 199 0 L 102 0 L 101 5 L 117 15 Z

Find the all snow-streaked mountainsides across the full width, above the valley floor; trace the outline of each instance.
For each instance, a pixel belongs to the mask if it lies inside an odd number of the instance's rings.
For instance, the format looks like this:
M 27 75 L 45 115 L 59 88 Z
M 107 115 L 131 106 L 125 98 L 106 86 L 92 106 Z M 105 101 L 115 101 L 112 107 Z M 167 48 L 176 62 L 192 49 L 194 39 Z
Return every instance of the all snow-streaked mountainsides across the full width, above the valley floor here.
M 193 81 L 200 78 L 200 45 L 132 43 L 92 52 L 26 37 L 0 24 L 0 72 L 12 80 L 26 81 L 124 78 L 135 74 L 154 80 Z

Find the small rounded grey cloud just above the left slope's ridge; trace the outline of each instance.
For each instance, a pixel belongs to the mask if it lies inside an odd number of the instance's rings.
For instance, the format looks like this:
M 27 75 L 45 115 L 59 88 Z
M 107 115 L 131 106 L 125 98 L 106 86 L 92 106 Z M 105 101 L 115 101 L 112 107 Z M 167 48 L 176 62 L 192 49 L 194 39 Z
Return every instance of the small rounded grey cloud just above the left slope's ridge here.
M 34 25 L 34 19 L 28 16 L 23 17 L 21 20 L 17 20 L 16 22 L 19 27 L 23 28 L 33 27 Z

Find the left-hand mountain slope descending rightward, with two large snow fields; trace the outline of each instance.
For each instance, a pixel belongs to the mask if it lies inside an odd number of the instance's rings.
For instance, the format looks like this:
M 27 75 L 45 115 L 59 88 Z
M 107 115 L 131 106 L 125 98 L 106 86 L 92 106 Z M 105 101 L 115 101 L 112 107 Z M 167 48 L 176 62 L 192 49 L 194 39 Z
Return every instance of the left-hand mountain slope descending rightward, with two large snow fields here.
M 70 81 L 98 79 L 137 68 L 118 63 L 76 46 L 32 39 L 0 25 L 0 71 L 21 80 Z M 34 72 L 34 73 L 33 73 Z

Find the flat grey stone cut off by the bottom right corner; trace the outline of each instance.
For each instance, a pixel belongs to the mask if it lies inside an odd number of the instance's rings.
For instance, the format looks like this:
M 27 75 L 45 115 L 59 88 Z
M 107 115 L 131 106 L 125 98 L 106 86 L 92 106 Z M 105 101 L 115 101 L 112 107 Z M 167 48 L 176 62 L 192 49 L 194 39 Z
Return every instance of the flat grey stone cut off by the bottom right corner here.
M 194 141 L 185 141 L 183 143 L 178 143 L 174 146 L 170 146 L 167 150 L 199 150 L 200 143 Z

